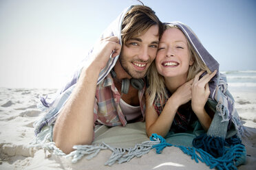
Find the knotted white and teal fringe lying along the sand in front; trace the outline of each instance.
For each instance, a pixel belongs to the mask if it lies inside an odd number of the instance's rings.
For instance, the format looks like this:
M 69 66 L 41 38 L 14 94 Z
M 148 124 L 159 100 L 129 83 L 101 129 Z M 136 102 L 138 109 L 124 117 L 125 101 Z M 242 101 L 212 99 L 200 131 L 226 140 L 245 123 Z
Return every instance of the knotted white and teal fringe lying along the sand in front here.
M 225 153 L 221 157 L 215 158 L 203 149 L 171 145 L 170 143 L 167 143 L 162 136 L 158 136 L 157 134 L 152 134 L 150 137 L 151 141 L 145 141 L 131 148 L 111 147 L 106 143 L 99 143 L 97 145 L 75 145 L 73 147 L 75 150 L 67 155 L 63 153 L 61 149 L 58 149 L 55 143 L 51 141 L 52 126 L 42 130 L 42 132 L 36 137 L 37 138 L 34 140 L 31 147 L 36 149 L 53 150 L 53 154 L 72 158 L 72 163 L 78 162 L 78 160 L 81 160 L 85 155 L 87 155 L 87 159 L 92 159 L 97 156 L 101 150 L 109 149 L 112 151 L 112 154 L 109 160 L 105 162 L 105 165 L 111 166 L 114 165 L 115 162 L 120 164 L 123 162 L 129 162 L 129 160 L 134 157 L 139 158 L 144 154 L 149 153 L 152 148 L 156 148 L 156 153 L 160 154 L 164 147 L 171 146 L 180 148 L 184 154 L 191 156 L 191 159 L 195 160 L 195 162 L 204 162 L 211 169 L 214 167 L 217 169 L 237 169 L 236 166 L 243 164 L 246 159 L 246 149 L 244 145 L 239 144 L 240 141 L 237 141 L 235 138 L 231 138 L 229 141 L 225 142 L 225 144 L 233 143 L 235 145 L 232 145 L 230 148 L 226 147 Z

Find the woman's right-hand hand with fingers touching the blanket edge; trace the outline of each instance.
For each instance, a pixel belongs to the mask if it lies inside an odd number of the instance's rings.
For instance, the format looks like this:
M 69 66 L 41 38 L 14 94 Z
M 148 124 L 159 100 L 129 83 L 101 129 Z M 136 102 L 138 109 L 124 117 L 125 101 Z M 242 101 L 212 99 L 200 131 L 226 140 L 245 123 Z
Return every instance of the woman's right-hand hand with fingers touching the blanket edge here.
M 209 89 L 208 83 L 213 78 L 213 76 L 217 73 L 217 71 L 215 70 L 211 74 L 206 74 L 199 80 L 199 77 L 200 75 L 202 75 L 202 73 L 204 73 L 204 71 L 200 71 L 200 73 L 195 75 L 193 79 L 193 84 L 191 87 L 192 88 L 191 106 L 195 114 L 201 114 L 205 111 L 204 106 L 210 95 L 210 89 Z

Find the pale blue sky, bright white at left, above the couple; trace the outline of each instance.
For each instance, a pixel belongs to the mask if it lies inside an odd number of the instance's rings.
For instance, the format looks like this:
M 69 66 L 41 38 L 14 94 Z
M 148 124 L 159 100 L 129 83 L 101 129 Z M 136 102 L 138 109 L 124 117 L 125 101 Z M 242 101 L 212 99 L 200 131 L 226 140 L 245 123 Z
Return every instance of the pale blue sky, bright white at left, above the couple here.
M 142 0 L 143 1 L 143 0 Z M 256 70 L 255 0 L 144 0 L 189 25 L 220 71 Z M 0 0 L 0 87 L 60 88 L 105 28 L 136 0 Z

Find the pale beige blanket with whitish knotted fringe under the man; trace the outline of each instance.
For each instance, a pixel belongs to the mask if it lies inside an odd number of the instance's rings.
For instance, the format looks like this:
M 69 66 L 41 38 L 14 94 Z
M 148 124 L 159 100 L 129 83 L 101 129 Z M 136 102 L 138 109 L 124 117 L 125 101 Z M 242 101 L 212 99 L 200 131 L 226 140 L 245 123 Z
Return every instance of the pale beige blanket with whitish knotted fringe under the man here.
M 101 150 L 109 149 L 112 155 L 105 165 L 113 165 L 115 162 L 128 162 L 131 158 L 140 157 L 149 153 L 153 145 L 160 143 L 159 141 L 149 141 L 145 130 L 145 123 L 130 123 L 125 127 L 107 127 L 105 125 L 97 125 L 95 129 L 95 139 L 92 145 L 75 145 L 74 151 L 66 155 L 55 146 L 52 142 L 53 126 L 43 127 L 42 132 L 33 142 L 32 147 L 38 149 L 50 149 L 54 154 L 60 156 L 71 157 L 72 162 L 87 156 L 87 159 L 92 159 Z M 104 164 L 104 162 L 101 162 Z

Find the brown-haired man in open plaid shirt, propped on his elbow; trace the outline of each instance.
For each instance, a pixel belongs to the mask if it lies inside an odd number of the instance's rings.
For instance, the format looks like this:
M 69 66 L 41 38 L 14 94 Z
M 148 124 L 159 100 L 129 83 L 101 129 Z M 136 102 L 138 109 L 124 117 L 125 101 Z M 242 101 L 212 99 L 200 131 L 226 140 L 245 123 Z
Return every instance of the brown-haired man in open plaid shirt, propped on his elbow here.
M 94 125 L 126 125 L 144 120 L 145 85 L 122 91 L 122 80 L 143 78 L 156 58 L 162 25 L 155 12 L 145 5 L 134 5 L 122 20 L 122 46 L 118 37 L 102 38 L 81 71 L 76 86 L 58 112 L 53 141 L 66 154 L 73 145 L 90 145 Z M 98 82 L 109 56 L 119 56 L 111 73 Z M 134 109 L 134 111 L 131 111 Z M 131 111 L 131 112 L 129 112 Z

